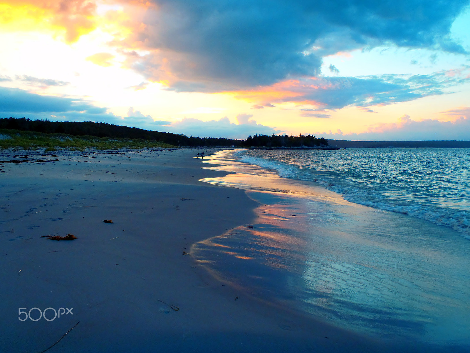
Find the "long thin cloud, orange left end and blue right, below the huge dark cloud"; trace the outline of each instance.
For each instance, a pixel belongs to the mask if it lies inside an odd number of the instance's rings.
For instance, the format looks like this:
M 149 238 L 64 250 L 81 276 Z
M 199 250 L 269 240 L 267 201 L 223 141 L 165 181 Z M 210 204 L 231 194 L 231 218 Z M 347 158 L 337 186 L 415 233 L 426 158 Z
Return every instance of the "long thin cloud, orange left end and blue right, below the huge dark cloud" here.
M 387 105 L 445 94 L 448 88 L 470 81 L 470 66 L 428 75 L 386 74 L 361 77 L 312 77 L 286 80 L 268 87 L 233 92 L 253 103 L 302 102 L 321 109 L 350 105 Z

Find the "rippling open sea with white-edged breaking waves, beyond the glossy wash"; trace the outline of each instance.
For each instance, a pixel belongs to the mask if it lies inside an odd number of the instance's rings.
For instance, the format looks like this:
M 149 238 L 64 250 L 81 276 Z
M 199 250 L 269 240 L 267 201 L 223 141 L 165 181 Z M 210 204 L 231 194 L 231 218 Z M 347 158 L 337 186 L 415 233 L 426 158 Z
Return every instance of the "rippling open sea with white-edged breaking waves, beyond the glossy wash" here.
M 448 226 L 470 239 L 470 149 L 243 150 L 242 161 L 345 200 Z

